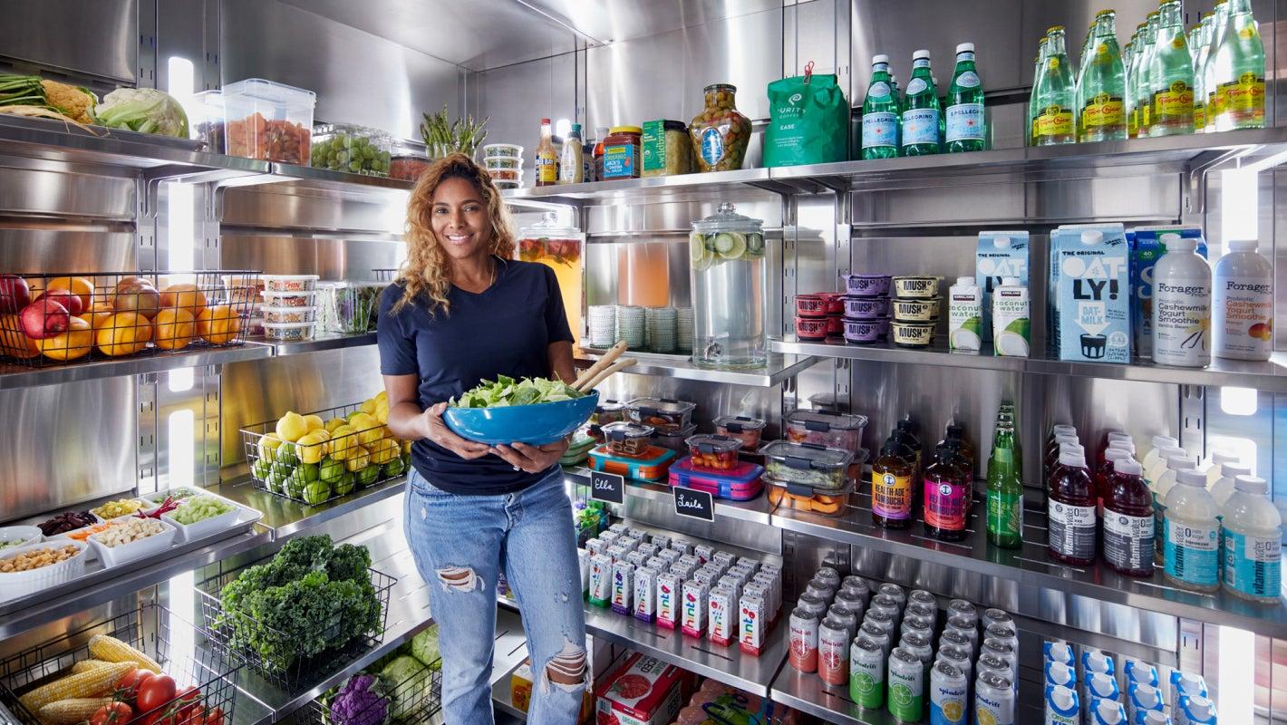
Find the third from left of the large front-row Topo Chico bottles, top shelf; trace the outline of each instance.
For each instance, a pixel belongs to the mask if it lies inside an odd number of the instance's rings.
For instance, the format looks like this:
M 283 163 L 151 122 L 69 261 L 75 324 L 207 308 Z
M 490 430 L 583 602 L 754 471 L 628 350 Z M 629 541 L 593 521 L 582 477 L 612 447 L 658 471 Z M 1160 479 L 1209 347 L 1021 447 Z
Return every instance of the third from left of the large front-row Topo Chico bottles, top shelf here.
M 1180 0 L 1166 0 L 1158 8 L 1157 40 L 1148 73 L 1153 85 L 1149 137 L 1193 133 L 1193 57 L 1181 17 Z

